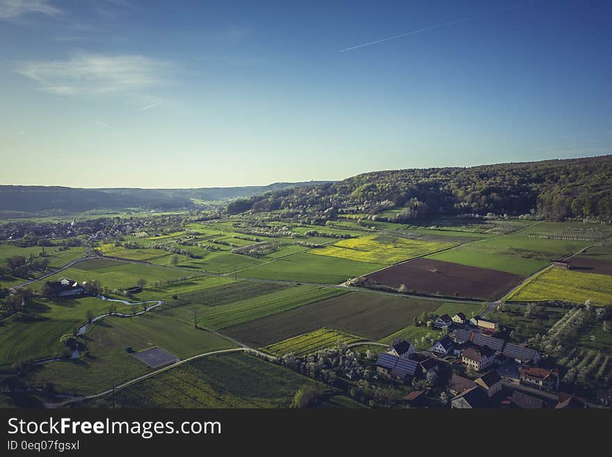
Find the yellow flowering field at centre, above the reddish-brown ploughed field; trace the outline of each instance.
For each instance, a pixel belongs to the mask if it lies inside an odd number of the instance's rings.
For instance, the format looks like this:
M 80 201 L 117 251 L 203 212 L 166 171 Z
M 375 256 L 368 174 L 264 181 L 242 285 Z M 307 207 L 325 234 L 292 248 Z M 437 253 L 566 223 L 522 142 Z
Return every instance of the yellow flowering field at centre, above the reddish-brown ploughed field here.
M 314 249 L 311 252 L 312 254 L 339 257 L 357 262 L 390 265 L 451 246 L 453 246 L 452 243 L 414 241 L 396 236 L 376 234 L 344 239 L 332 246 Z

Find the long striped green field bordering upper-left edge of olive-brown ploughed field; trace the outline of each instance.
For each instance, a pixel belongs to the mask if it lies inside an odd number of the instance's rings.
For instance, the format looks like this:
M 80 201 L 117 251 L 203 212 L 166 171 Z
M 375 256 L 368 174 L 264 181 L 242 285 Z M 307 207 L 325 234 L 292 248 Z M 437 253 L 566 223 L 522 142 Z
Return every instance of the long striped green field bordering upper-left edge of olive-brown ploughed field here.
M 226 328 L 241 323 L 261 319 L 272 314 L 291 310 L 307 303 L 323 300 L 346 291 L 330 289 L 325 287 L 292 286 L 283 287 L 268 294 L 252 296 L 245 300 L 232 301 L 223 305 L 207 305 L 202 300 L 202 305 L 196 308 L 198 325 L 207 328 Z M 162 310 L 177 319 L 193 322 L 193 307 L 176 307 L 170 310 Z

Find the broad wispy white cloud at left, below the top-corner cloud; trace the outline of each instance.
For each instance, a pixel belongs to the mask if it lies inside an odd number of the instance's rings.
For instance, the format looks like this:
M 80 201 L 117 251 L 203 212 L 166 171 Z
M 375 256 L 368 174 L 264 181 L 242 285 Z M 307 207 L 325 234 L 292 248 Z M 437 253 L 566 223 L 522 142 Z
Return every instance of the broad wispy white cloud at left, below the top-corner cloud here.
M 85 54 L 65 61 L 19 61 L 15 71 L 55 95 L 137 92 L 160 83 L 168 63 L 145 56 Z

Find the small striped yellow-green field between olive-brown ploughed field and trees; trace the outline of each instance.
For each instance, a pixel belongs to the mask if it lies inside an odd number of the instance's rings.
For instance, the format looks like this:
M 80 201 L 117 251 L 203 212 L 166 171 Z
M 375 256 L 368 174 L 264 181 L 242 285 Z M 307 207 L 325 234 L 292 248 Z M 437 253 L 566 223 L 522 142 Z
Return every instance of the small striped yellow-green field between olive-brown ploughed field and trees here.
M 261 348 L 261 351 L 276 355 L 277 357 L 287 353 L 305 355 L 320 351 L 321 349 L 337 346 L 337 344 L 351 344 L 360 339 L 360 337 L 348 335 L 348 333 L 331 330 L 329 328 L 320 328 L 314 332 L 308 332 L 304 335 L 285 339 L 282 342 L 269 344 Z

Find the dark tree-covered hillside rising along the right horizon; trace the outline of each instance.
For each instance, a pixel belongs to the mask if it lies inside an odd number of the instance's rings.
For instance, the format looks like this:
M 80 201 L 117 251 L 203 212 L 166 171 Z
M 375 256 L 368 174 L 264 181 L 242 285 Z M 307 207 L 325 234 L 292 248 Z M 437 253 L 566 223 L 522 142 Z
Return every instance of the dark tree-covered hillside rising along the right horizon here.
M 286 217 L 378 214 L 405 207 L 399 218 L 434 214 L 536 214 L 612 219 L 612 155 L 364 173 L 340 182 L 285 189 L 232 202 L 227 211 L 282 210 Z

